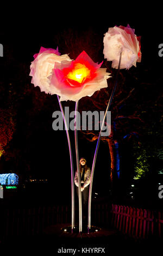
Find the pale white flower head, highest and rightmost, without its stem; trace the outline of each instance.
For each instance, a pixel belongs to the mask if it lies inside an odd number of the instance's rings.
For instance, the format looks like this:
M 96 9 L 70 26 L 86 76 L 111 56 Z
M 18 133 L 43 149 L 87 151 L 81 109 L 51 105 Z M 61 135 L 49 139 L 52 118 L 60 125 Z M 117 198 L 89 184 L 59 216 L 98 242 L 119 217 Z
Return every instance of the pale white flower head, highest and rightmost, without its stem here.
M 109 28 L 104 36 L 104 57 L 112 61 L 112 68 L 118 69 L 122 51 L 120 69 L 129 69 L 141 62 L 140 36 L 135 35 L 135 29 L 124 26 Z

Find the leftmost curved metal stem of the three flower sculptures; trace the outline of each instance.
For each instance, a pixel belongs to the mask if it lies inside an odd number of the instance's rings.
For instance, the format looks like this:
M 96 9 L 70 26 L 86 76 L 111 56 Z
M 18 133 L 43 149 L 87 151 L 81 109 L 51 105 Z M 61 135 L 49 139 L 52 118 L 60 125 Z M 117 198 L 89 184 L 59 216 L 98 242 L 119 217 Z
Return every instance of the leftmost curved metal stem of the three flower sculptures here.
M 72 213 L 72 232 L 73 232 L 73 228 L 74 228 L 74 171 L 73 171 L 73 158 L 72 158 L 72 150 L 71 150 L 71 143 L 70 143 L 70 136 L 69 136 L 69 132 L 68 132 L 68 128 L 67 128 L 67 123 L 66 123 L 66 118 L 65 118 L 65 114 L 62 108 L 62 104 L 60 102 L 60 97 L 57 95 L 58 97 L 58 102 L 59 102 L 59 106 L 61 109 L 61 113 L 62 113 L 62 117 L 64 119 L 64 124 L 65 124 L 65 128 L 66 128 L 66 134 L 67 134 L 67 141 L 68 141 L 68 148 L 69 148 L 69 152 L 70 152 L 70 163 L 71 163 L 71 213 Z

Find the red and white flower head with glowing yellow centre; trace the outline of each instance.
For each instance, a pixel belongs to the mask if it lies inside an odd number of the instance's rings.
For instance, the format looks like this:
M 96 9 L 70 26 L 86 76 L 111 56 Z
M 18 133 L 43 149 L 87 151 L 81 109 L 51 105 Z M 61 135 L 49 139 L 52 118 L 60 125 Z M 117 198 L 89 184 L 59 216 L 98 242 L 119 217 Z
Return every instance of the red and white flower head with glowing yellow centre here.
M 85 51 L 72 62 L 55 63 L 51 77 L 51 94 L 58 94 L 60 101 L 78 101 L 92 96 L 97 90 L 107 87 L 110 77 L 102 65 L 93 62 Z

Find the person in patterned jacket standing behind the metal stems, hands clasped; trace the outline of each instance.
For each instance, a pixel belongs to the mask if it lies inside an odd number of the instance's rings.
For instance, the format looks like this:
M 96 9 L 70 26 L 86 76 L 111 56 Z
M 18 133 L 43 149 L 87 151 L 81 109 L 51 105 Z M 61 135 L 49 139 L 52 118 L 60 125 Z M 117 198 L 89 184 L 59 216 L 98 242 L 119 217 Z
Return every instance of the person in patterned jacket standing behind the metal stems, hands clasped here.
M 83 205 L 83 223 L 86 224 L 87 216 L 87 204 L 89 198 L 89 184 L 91 182 L 91 170 L 86 165 L 86 160 L 84 157 L 80 159 L 79 162 L 80 169 L 80 181 L 81 181 L 81 191 L 82 191 L 82 205 Z M 77 186 L 77 195 L 78 195 L 78 171 L 74 176 L 74 183 Z

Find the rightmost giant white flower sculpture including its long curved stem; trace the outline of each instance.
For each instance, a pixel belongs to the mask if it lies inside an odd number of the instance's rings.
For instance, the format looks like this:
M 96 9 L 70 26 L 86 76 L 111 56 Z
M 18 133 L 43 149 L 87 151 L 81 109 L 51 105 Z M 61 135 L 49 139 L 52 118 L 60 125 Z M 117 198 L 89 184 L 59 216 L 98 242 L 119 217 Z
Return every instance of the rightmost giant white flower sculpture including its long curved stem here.
M 108 106 L 106 107 L 105 115 L 103 118 L 101 131 L 103 129 L 106 113 L 111 105 L 112 97 L 114 96 L 115 89 L 118 81 L 118 73 L 120 69 L 129 69 L 131 66 L 136 66 L 136 62 L 141 62 L 141 50 L 140 50 L 140 36 L 135 35 L 135 30 L 123 26 L 115 26 L 109 28 L 109 31 L 104 35 L 104 57 L 107 60 L 112 61 L 112 68 L 118 69 L 117 75 L 112 88 Z M 88 227 L 91 227 L 91 195 L 92 195 L 92 182 L 93 174 L 95 170 L 95 163 L 99 148 L 99 142 L 101 140 L 101 131 L 99 132 L 98 141 L 96 145 L 95 155 L 93 157 L 93 164 L 91 170 L 91 183 L 89 191 L 89 216 L 88 216 Z

